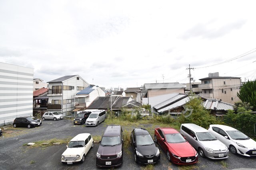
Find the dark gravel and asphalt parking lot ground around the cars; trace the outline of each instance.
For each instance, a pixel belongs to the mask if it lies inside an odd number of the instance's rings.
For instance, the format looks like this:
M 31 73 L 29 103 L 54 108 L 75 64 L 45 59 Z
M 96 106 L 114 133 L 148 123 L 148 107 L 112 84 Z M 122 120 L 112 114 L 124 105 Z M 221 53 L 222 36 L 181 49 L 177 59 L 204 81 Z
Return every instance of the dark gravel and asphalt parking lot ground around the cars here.
M 45 141 L 50 139 L 65 139 L 74 137 L 79 133 L 91 133 L 92 137 L 101 136 L 106 129 L 106 124 L 100 123 L 96 127 L 86 127 L 85 125 L 74 125 L 71 119 L 58 121 L 46 120 L 40 127 L 35 128 L 9 128 L 0 137 L 0 170 L 20 170 L 20 169 L 39 169 L 39 170 L 80 170 L 80 169 L 100 169 L 96 167 L 96 152 L 99 144 L 95 144 L 86 155 L 83 164 L 75 163 L 72 165 L 62 164 L 61 155 L 66 150 L 66 144 L 53 145 L 46 148 L 29 148 L 27 143 Z M 146 125 L 150 126 L 150 125 Z M 143 127 L 143 125 L 141 126 Z M 123 130 L 131 127 L 122 126 Z M 10 130 L 11 129 L 11 130 Z M 9 131 L 9 136 L 5 133 Z M 158 146 L 158 145 L 157 145 Z M 159 146 L 158 146 L 159 147 Z M 199 156 L 198 163 L 192 166 L 178 166 L 168 162 L 166 154 L 159 147 L 161 160 L 154 165 L 157 170 L 220 170 L 220 169 L 255 169 L 256 157 L 244 157 L 229 153 L 229 158 L 225 160 L 210 160 Z M 147 169 L 134 162 L 132 147 L 124 152 L 124 162 L 116 169 L 138 170 Z M 103 168 L 104 169 L 104 168 Z

